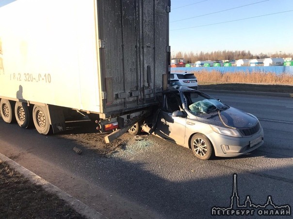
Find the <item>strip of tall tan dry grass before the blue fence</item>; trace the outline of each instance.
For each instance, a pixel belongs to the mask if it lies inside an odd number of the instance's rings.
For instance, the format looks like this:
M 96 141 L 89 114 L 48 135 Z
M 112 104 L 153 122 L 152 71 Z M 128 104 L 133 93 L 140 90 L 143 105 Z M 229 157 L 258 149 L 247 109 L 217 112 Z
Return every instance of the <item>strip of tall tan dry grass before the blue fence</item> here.
M 218 71 L 200 71 L 195 73 L 199 82 L 247 83 L 293 85 L 293 75 L 289 73 L 235 72 L 221 73 Z

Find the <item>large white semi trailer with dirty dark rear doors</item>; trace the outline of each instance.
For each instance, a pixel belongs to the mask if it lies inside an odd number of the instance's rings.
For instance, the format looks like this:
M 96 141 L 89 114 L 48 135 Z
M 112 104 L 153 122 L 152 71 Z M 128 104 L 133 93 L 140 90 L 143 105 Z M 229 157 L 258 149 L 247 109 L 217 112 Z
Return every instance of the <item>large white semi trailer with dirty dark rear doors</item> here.
M 0 0 L 0 113 L 42 134 L 65 114 L 127 131 L 167 87 L 169 0 Z

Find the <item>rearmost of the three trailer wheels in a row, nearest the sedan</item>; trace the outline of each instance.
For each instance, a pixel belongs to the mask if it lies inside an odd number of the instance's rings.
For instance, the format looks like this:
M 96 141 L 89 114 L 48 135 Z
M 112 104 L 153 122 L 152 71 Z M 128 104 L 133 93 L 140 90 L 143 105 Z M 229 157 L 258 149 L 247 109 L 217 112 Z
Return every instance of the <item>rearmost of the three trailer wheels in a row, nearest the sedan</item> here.
M 48 112 L 44 106 L 33 106 L 33 124 L 40 134 L 49 134 L 51 126 Z

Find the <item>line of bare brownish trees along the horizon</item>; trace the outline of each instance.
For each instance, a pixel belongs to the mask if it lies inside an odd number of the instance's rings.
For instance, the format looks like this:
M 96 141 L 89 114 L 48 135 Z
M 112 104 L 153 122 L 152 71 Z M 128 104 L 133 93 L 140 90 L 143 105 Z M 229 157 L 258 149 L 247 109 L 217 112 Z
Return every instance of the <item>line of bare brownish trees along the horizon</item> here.
M 275 52 L 275 53 L 260 53 L 253 55 L 248 50 L 247 52 L 245 50 L 236 50 L 236 51 L 230 51 L 230 50 L 224 50 L 224 51 L 213 51 L 213 52 L 203 52 L 200 51 L 199 53 L 194 52 L 178 52 L 176 54 L 173 54 L 172 58 L 184 58 L 187 63 L 195 63 L 196 61 L 204 61 L 204 60 L 237 60 L 237 59 L 253 59 L 253 58 L 288 58 L 293 57 L 292 53 L 282 53 L 282 52 Z

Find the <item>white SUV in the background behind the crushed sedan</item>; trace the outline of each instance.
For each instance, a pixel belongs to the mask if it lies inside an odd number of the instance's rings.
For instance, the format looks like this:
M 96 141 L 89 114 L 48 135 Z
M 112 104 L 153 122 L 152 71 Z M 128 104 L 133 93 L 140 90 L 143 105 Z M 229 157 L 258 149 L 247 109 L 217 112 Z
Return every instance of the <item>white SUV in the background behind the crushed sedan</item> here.
M 170 86 L 185 86 L 197 89 L 197 78 L 193 73 L 170 73 Z

